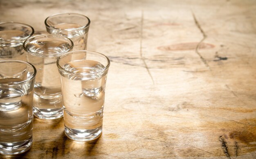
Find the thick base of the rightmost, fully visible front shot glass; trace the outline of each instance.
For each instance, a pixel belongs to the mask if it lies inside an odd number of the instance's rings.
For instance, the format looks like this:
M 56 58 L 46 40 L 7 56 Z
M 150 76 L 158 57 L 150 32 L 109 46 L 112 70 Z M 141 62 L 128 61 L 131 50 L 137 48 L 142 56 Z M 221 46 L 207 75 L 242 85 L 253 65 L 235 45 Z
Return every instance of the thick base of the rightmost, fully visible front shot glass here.
M 65 126 L 65 134 L 77 142 L 90 142 L 101 136 L 102 126 L 96 129 L 71 129 Z

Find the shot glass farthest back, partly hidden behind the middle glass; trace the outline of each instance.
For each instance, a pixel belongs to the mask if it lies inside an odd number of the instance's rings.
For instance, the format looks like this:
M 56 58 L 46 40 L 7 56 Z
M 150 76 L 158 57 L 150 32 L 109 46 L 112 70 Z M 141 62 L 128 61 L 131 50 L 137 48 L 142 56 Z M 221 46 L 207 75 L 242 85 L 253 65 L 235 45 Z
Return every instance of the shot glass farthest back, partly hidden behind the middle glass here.
M 45 19 L 47 32 L 70 38 L 73 50 L 86 50 L 89 26 L 90 19 L 77 13 L 58 13 Z

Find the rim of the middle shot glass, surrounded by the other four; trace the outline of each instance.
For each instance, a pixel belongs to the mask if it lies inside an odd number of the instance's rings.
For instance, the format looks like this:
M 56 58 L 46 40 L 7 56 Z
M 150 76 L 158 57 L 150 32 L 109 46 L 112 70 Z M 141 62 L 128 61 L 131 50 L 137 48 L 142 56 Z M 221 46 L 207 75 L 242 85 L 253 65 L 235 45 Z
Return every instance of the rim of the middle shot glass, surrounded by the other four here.
M 47 37 L 58 37 L 58 38 L 66 39 L 66 40 L 70 41 L 71 46 L 70 46 L 69 49 L 65 50 L 64 52 L 61 52 L 61 54 L 60 54 L 60 53 L 54 53 L 54 54 L 38 54 L 38 53 L 36 53 L 36 52 L 31 52 L 30 50 L 28 50 L 28 49 L 26 48 L 27 44 L 30 42 L 29 40 L 31 40 L 31 39 L 33 39 L 33 38 L 37 38 L 37 37 L 46 37 L 46 36 L 47 36 Z M 32 41 L 32 40 L 31 40 L 31 41 Z M 67 52 L 70 52 L 70 51 L 73 49 L 73 47 L 74 47 L 74 43 L 73 43 L 73 41 L 72 41 L 70 38 L 65 37 L 65 36 L 63 36 L 63 35 L 41 34 L 41 35 L 36 35 L 36 36 L 33 36 L 33 37 L 28 38 L 26 41 L 24 41 L 24 43 L 22 44 L 22 47 L 23 47 L 23 49 L 25 50 L 25 52 L 27 52 L 27 53 L 29 53 L 29 54 L 32 54 L 32 55 L 35 55 L 35 56 L 38 56 L 38 57 L 55 57 L 55 55 L 60 55 L 60 56 L 61 56 L 61 55 L 65 54 L 65 53 L 67 53 Z

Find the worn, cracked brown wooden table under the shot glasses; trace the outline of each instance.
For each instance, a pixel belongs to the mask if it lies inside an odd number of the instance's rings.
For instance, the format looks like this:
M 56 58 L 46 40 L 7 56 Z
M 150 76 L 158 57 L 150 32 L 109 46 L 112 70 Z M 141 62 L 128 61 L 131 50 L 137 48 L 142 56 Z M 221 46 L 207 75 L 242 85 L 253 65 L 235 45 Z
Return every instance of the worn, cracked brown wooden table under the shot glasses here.
M 7 158 L 256 158 L 256 1 L 0 0 L 0 22 L 37 31 L 62 12 L 90 17 L 88 50 L 111 60 L 103 134 L 79 144 L 35 118 Z

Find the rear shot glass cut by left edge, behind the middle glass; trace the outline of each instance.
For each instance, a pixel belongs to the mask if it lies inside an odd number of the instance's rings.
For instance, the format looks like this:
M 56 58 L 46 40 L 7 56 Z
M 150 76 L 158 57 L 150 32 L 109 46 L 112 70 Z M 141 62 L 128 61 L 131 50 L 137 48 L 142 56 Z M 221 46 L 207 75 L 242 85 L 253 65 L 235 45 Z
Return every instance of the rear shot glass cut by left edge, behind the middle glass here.
M 0 23 L 0 60 L 16 59 L 26 61 L 23 42 L 34 34 L 34 29 L 22 23 Z

